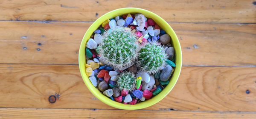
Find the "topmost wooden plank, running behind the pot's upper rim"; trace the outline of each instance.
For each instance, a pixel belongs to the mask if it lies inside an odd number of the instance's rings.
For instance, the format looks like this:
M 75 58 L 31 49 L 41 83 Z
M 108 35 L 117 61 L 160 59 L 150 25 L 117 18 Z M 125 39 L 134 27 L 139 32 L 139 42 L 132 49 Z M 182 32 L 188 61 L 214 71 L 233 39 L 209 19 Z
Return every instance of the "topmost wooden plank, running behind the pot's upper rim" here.
M 143 8 L 167 22 L 255 23 L 253 0 L 0 0 L 0 20 L 94 21 L 108 11 Z

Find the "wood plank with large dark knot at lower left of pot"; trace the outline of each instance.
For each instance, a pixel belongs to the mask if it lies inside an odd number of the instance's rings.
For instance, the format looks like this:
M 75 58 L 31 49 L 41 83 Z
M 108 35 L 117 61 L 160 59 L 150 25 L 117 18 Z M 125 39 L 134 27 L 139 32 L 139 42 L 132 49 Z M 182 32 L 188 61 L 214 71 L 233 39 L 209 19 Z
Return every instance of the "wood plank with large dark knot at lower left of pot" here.
M 77 65 L 0 64 L 0 77 L 0 108 L 113 109 L 90 93 Z M 183 66 L 174 89 L 145 109 L 255 112 L 256 67 Z

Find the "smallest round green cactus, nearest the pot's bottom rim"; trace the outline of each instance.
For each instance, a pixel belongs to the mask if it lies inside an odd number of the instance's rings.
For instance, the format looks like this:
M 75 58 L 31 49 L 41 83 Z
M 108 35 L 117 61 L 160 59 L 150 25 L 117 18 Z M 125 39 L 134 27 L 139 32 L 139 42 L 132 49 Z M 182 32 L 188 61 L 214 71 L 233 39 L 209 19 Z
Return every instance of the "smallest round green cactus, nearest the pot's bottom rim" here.
M 118 75 L 117 88 L 119 91 L 132 91 L 135 89 L 136 80 L 135 75 L 131 72 L 122 72 Z

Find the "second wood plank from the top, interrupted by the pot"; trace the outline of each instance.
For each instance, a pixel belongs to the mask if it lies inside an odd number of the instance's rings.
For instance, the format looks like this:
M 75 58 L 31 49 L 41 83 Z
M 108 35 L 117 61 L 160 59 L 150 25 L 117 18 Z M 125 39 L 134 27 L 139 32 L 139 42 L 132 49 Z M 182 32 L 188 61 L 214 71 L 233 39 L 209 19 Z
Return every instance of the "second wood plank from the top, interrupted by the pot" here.
M 78 64 L 80 42 L 91 23 L 1 21 L 0 63 Z M 170 25 L 180 39 L 183 65 L 256 66 L 256 24 Z

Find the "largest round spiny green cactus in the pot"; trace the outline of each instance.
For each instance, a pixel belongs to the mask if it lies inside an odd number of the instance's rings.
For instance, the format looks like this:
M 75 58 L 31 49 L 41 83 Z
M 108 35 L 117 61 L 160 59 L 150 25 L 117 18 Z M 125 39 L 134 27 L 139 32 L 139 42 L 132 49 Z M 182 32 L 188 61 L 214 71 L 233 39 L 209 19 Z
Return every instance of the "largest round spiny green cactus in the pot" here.
M 98 50 L 105 64 L 122 69 L 137 59 L 139 44 L 130 28 L 109 29 L 103 34 Z

